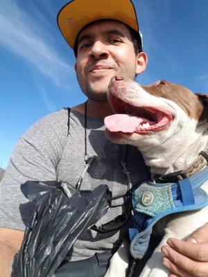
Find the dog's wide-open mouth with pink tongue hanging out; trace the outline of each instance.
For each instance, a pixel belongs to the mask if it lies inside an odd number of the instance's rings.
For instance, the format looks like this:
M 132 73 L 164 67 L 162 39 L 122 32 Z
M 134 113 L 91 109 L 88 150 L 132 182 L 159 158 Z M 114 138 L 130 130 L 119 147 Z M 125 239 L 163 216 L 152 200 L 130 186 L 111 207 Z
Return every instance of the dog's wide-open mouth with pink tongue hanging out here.
M 110 104 L 116 112 L 105 118 L 105 126 L 110 132 L 149 134 L 165 129 L 173 119 L 170 111 L 157 107 L 139 107 L 115 96 L 110 97 Z

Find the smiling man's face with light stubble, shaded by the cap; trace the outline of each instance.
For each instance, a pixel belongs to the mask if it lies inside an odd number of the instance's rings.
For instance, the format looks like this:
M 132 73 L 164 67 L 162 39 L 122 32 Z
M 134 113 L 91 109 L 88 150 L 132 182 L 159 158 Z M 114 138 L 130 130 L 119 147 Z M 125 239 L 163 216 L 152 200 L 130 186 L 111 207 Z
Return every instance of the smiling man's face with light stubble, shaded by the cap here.
M 131 79 L 137 72 L 137 55 L 128 28 L 118 21 L 97 21 L 78 37 L 76 74 L 81 89 L 92 100 L 106 100 L 114 75 Z

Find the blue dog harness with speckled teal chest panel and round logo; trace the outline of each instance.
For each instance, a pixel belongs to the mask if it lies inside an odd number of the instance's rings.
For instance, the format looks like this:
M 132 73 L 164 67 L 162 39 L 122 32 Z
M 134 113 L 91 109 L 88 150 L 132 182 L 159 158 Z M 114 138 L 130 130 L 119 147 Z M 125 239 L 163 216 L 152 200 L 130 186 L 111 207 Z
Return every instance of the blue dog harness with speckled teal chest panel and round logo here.
M 166 215 L 195 211 L 207 206 L 208 196 L 200 186 L 208 179 L 208 166 L 191 177 L 175 183 L 155 184 L 147 181 L 132 190 L 133 223 L 130 229 L 130 253 L 141 259 L 153 225 Z

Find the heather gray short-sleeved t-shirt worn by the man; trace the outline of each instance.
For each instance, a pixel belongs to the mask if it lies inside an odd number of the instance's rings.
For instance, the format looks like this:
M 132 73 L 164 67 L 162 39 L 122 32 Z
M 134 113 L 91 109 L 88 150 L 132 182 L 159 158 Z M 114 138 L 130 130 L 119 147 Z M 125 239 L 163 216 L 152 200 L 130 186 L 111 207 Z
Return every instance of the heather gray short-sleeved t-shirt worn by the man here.
M 20 190 L 27 180 L 61 180 L 76 186 L 85 166 L 85 116 L 71 111 L 69 136 L 68 112 L 56 111 L 39 120 L 19 139 L 12 152 L 6 174 L 0 184 L 0 226 L 24 230 L 32 207 Z M 107 184 L 112 191 L 112 208 L 96 223 L 109 222 L 125 210 L 127 179 L 121 168 L 123 145 L 112 143 L 105 136 L 103 118 L 87 117 L 87 154 L 95 156 L 82 183 L 82 190 L 93 190 Z M 132 184 L 139 184 L 148 175 L 137 148 L 128 147 L 126 165 Z M 100 234 L 89 230 L 73 244 L 68 260 L 81 260 L 117 247 L 126 229 L 116 234 Z

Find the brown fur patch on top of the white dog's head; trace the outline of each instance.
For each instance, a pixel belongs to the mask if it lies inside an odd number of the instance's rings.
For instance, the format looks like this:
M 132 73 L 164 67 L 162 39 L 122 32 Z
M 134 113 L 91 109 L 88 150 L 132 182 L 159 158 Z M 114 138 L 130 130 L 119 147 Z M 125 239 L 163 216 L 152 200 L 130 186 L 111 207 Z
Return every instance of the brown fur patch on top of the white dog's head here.
M 191 118 L 196 120 L 208 119 L 208 100 L 205 95 L 197 95 L 187 87 L 166 80 L 141 87 L 154 96 L 174 101 Z

